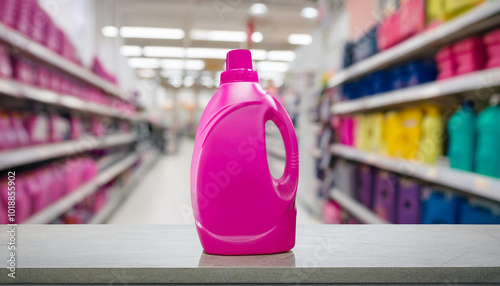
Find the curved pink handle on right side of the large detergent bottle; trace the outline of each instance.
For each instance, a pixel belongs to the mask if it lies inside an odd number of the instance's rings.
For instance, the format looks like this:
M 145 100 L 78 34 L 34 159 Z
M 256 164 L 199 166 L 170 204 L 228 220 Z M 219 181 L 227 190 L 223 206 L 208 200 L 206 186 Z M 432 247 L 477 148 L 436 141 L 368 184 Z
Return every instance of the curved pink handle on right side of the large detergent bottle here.
M 278 189 L 280 197 L 291 200 L 297 192 L 299 182 L 299 147 L 295 128 L 290 116 L 285 108 L 273 97 L 276 108 L 270 108 L 265 118 L 272 121 L 278 127 L 285 145 L 286 163 L 283 175 L 276 179 L 273 178 L 275 187 Z

